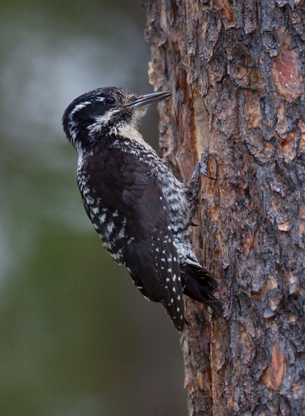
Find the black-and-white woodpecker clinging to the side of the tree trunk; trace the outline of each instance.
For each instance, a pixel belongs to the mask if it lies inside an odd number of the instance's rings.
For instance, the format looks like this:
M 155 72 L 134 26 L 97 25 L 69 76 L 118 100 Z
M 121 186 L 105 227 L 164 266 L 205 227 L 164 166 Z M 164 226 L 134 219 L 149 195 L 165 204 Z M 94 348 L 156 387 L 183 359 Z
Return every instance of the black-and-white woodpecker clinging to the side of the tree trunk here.
M 78 152 L 78 187 L 87 216 L 107 252 L 130 272 L 148 300 L 160 302 L 178 331 L 186 323 L 184 297 L 219 315 L 216 280 L 189 241 L 204 160 L 182 183 L 137 129 L 149 105 L 171 91 L 132 94 L 120 87 L 94 89 L 64 111 L 62 125 Z M 207 153 L 204 155 L 207 157 Z

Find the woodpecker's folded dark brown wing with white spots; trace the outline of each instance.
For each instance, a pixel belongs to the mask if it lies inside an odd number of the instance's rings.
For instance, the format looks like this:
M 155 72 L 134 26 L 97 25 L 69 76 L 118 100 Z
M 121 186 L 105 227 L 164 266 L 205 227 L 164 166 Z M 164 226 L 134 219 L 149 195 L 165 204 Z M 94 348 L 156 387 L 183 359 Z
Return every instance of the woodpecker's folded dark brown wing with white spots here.
M 161 302 L 175 327 L 182 330 L 180 265 L 162 190 L 148 166 L 134 155 L 105 149 L 94 158 L 84 165 L 90 173 L 91 194 L 83 195 L 89 218 L 112 257 L 130 270 L 141 293 Z

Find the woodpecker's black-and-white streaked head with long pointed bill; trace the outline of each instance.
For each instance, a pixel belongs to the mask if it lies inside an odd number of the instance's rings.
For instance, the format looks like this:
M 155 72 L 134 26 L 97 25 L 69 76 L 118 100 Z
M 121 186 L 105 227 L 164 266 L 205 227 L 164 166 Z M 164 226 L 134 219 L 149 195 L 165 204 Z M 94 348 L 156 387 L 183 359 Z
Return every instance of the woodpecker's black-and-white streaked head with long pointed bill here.
M 78 152 L 110 136 L 131 139 L 147 107 L 169 96 L 171 91 L 137 96 L 120 87 L 94 89 L 64 111 L 64 132 Z

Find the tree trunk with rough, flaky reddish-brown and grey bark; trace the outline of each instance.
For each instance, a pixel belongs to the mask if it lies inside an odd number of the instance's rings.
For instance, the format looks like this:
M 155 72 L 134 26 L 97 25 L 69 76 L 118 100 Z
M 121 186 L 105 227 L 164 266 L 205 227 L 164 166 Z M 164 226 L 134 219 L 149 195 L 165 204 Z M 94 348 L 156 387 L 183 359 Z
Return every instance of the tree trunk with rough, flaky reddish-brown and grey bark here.
M 304 415 L 304 1 L 146 0 L 160 146 L 202 178 L 198 256 L 225 313 L 186 299 L 189 415 Z

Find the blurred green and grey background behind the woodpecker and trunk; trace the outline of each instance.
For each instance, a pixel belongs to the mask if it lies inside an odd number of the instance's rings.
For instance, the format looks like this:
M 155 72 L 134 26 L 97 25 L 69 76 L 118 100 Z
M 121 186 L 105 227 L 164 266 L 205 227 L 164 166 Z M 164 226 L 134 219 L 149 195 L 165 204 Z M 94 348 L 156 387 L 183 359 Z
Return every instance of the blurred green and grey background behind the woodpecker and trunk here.
M 153 92 L 141 1 L 0 4 L 0 415 L 186 415 L 179 334 L 105 254 L 61 127 L 89 89 Z

